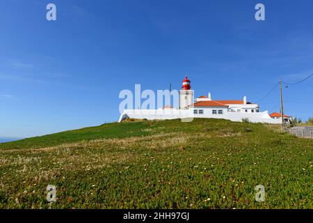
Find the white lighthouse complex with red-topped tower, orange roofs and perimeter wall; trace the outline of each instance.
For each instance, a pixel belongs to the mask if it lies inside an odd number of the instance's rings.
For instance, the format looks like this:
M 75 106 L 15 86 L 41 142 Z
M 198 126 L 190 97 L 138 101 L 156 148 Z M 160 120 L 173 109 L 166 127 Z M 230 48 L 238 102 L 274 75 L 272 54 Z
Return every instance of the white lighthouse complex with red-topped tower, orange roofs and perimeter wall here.
M 212 100 L 208 96 L 200 96 L 194 100 L 190 80 L 183 80 L 179 91 L 179 107 L 163 109 L 125 109 L 119 121 L 125 118 L 174 119 L 174 118 L 224 118 L 231 121 L 250 121 L 252 123 L 282 123 L 281 119 L 271 118 L 268 112 L 259 112 L 259 105 L 243 100 Z

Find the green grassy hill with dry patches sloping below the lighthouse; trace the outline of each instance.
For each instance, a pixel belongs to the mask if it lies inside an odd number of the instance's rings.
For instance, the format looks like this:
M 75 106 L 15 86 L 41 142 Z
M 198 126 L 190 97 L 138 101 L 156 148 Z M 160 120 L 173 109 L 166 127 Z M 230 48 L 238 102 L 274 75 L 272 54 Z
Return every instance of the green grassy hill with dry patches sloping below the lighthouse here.
M 313 208 L 312 149 L 274 125 L 200 118 L 23 139 L 0 144 L 0 208 Z

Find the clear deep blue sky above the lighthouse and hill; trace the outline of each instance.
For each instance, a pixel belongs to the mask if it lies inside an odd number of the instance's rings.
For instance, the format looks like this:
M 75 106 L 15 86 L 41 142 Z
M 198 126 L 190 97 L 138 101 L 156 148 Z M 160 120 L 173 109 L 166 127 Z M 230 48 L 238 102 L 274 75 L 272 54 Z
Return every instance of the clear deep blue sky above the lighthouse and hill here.
M 179 89 L 185 74 L 195 95 L 256 102 L 280 78 L 313 72 L 312 10 L 310 0 L 1 1 L 0 137 L 117 121 L 122 89 Z M 312 84 L 284 89 L 287 114 L 313 116 Z M 278 88 L 259 102 L 279 103 Z

